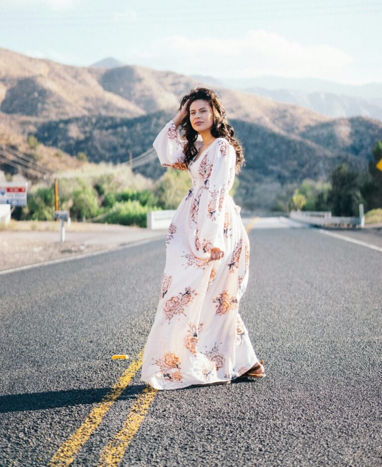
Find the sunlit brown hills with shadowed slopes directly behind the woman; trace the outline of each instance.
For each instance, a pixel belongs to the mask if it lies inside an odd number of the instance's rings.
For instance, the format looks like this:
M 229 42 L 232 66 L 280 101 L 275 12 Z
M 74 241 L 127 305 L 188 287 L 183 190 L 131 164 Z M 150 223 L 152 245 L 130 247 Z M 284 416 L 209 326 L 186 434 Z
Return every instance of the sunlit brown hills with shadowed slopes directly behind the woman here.
M 197 77 L 202 78 L 202 77 Z M 12 121 L 26 139 L 92 162 L 124 162 L 152 147 L 200 80 L 137 66 L 71 67 L 0 49 L 0 124 Z M 329 118 L 269 97 L 214 86 L 243 144 L 246 166 L 235 199 L 244 207 L 272 207 L 285 185 L 304 178 L 327 180 L 340 162 L 367 169 L 381 139 L 382 122 Z M 56 149 L 57 151 L 57 149 Z M 166 169 L 138 167 L 157 179 Z

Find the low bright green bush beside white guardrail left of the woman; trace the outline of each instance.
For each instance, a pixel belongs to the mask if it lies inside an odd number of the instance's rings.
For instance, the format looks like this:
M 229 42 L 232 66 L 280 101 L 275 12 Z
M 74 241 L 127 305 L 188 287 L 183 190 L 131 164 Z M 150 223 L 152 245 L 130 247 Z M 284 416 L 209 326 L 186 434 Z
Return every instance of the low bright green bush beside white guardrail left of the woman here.
M 160 208 L 148 205 L 142 206 L 136 199 L 117 201 L 112 209 L 102 217 L 101 222 L 147 227 L 147 212 L 152 210 L 160 210 Z

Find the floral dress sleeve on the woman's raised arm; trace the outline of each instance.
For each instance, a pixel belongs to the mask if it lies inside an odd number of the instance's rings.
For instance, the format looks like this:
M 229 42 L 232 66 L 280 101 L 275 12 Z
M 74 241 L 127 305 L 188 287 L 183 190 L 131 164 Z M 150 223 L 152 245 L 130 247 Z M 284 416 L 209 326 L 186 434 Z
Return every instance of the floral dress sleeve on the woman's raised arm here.
M 173 120 L 170 120 L 155 138 L 153 147 L 163 167 L 172 167 L 178 170 L 187 170 L 185 142 L 181 140 L 180 133 Z

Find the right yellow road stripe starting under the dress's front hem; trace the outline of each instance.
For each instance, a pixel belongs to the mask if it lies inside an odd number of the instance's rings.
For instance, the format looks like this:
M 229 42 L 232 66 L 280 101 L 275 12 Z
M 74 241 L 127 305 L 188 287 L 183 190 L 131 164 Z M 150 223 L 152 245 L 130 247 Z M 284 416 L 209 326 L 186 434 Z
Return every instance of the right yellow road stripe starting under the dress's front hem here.
M 121 430 L 118 431 L 101 452 L 98 467 L 116 467 L 120 464 L 127 446 L 138 431 L 157 392 L 158 390 L 152 387 L 145 387 L 143 389 L 138 399 L 132 405 Z

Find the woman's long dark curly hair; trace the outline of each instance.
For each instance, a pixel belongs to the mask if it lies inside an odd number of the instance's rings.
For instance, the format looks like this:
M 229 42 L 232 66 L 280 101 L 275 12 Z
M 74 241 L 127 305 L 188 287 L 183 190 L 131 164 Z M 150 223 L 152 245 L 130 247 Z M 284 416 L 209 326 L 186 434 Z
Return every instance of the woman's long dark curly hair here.
M 211 127 L 211 135 L 215 138 L 226 138 L 229 143 L 235 148 L 236 152 L 236 165 L 235 165 L 235 172 L 238 174 L 245 164 L 243 148 L 241 146 L 240 141 L 234 136 L 235 131 L 233 127 L 228 123 L 226 112 L 224 107 L 222 106 L 218 95 L 212 90 L 208 88 L 194 88 L 191 89 L 190 93 L 184 95 L 181 99 L 181 105 L 179 110 L 185 105 L 185 103 L 190 99 L 188 104 L 188 111 L 187 116 L 181 121 L 181 127 L 185 132 L 185 138 L 187 139 L 187 143 L 185 144 L 185 164 L 189 167 L 191 161 L 195 158 L 197 154 L 197 149 L 194 145 L 196 141 L 198 132 L 192 128 L 191 121 L 190 121 L 190 105 L 194 100 L 203 99 L 206 100 L 211 108 L 213 113 L 213 124 Z

